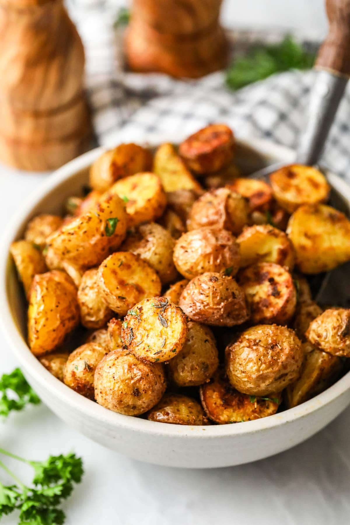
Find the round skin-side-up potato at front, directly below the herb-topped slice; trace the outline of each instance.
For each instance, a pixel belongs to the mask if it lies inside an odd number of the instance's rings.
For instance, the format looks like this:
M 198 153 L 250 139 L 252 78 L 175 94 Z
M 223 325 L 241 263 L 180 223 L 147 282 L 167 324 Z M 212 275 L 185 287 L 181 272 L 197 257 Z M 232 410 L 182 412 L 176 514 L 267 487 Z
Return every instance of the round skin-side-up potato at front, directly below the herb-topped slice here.
M 161 363 L 142 363 L 126 350 L 105 355 L 94 376 L 96 401 L 129 416 L 149 411 L 161 400 L 165 388 Z

